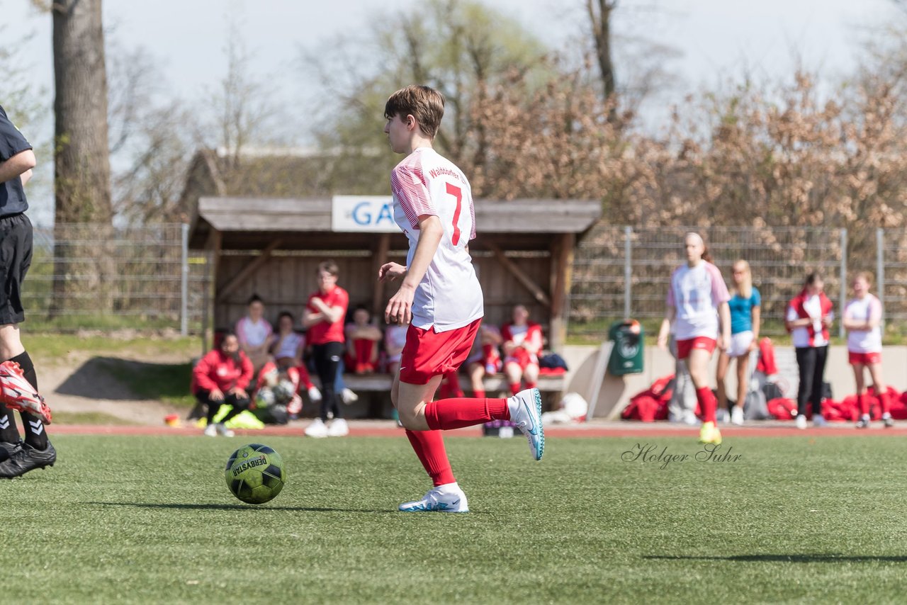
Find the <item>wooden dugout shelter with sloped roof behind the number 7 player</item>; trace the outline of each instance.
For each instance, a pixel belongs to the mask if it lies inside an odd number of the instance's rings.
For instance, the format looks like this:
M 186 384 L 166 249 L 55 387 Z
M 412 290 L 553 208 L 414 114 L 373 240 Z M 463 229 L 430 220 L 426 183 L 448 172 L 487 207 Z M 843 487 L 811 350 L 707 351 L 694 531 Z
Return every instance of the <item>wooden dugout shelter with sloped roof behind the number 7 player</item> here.
M 560 350 L 576 240 L 600 218 L 597 200 L 475 200 L 477 237 L 470 252 L 482 283 L 485 321 L 501 325 L 523 304 L 540 323 L 549 347 Z M 195 209 L 193 209 L 195 210 Z M 317 288 L 316 270 L 336 261 L 350 307 L 383 312 L 394 285 L 376 281 L 388 259 L 405 262 L 402 233 L 332 230 L 332 199 L 200 197 L 192 213 L 190 249 L 210 253 L 213 317 L 206 327 L 232 327 L 253 294 L 266 317 L 301 316 Z

